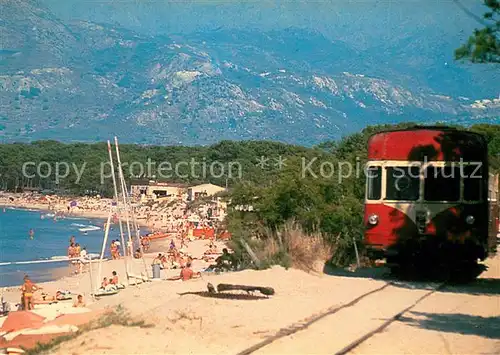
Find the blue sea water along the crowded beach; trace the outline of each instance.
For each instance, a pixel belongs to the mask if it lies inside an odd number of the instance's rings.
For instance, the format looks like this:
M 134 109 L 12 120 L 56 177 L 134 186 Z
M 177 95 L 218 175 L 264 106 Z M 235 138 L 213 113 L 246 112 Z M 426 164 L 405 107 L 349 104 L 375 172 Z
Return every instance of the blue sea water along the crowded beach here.
M 47 216 L 47 214 L 49 214 Z M 54 221 L 48 212 L 0 207 L 0 287 L 21 285 L 28 274 L 33 282 L 50 281 L 61 276 L 62 268 L 70 269 L 68 262 L 46 262 L 36 264 L 12 264 L 20 261 L 49 260 L 54 256 L 66 256 L 69 239 L 86 247 L 89 253 L 100 254 L 104 239 L 104 220 L 66 217 Z M 79 229 L 86 227 L 87 232 Z M 34 231 L 33 239 L 30 229 Z M 113 228 L 108 241 L 119 239 L 118 228 Z M 109 242 L 107 243 L 109 245 Z M 108 253 L 106 246 L 106 253 Z M 60 269 L 55 272 L 55 269 Z

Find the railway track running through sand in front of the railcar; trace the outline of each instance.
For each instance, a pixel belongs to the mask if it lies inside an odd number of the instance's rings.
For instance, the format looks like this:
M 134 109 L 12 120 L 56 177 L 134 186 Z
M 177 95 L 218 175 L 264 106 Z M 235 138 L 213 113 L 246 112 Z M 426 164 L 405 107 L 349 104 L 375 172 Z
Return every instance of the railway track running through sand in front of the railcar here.
M 409 289 L 397 286 L 395 282 L 386 282 L 347 303 L 281 329 L 238 355 L 311 351 L 347 354 L 445 285 L 446 283 L 440 283 L 428 289 Z M 374 304 L 378 306 L 374 307 Z M 352 324 L 353 322 L 356 324 Z

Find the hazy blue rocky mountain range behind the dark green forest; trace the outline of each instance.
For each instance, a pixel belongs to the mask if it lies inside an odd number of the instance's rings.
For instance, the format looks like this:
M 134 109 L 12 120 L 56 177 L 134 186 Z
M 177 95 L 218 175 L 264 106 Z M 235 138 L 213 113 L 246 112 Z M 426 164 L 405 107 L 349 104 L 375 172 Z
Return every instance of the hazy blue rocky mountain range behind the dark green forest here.
M 2 142 L 312 145 L 370 124 L 500 120 L 498 67 L 454 63 L 429 27 L 361 48 L 303 26 L 174 34 L 0 1 Z

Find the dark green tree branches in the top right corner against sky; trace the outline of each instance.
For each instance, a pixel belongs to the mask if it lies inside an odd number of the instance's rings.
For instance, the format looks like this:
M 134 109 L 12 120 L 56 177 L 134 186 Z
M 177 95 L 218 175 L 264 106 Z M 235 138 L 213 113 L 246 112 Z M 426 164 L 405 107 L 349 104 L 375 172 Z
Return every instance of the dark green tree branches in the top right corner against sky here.
M 455 50 L 457 60 L 470 60 L 473 63 L 500 63 L 500 0 L 483 1 L 488 11 L 483 15 L 483 19 L 477 18 L 477 20 L 484 27 L 475 29 L 467 43 Z

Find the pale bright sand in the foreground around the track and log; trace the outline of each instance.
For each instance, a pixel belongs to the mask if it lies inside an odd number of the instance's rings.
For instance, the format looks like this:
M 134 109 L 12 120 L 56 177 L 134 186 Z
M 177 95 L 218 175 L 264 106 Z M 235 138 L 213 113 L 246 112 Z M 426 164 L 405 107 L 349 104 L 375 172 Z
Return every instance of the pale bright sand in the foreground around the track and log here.
M 187 248 L 193 255 L 205 249 L 206 241 L 201 240 L 190 243 Z M 149 269 L 152 257 L 151 254 L 146 257 Z M 495 353 L 500 341 L 500 332 L 495 333 L 500 324 L 497 322 L 500 319 L 500 257 L 489 259 L 487 265 L 489 269 L 475 283 L 433 293 L 352 353 Z M 194 269 L 204 266 L 204 262 L 195 260 Z M 135 260 L 132 268 L 140 271 L 141 267 L 143 264 Z M 94 270 L 96 268 L 97 265 Z M 108 275 L 112 270 L 123 275 L 125 270 L 121 260 L 105 262 L 102 269 L 103 274 Z M 144 320 L 153 327 L 112 325 L 85 333 L 50 353 L 235 354 L 275 337 L 255 353 L 331 354 L 376 328 L 434 286 L 397 283 L 385 288 L 380 296 L 374 293 L 355 307 L 307 325 L 318 315 L 358 296 L 377 292 L 388 282 L 380 277 L 384 271 L 374 269 L 368 277 L 358 277 L 357 272 L 335 276 L 273 267 L 265 271 L 204 273 L 202 278 L 186 282 L 165 280 L 178 272 L 162 270 L 161 281 L 129 286 L 117 295 L 102 297 L 89 305 L 92 310 L 123 306 L 134 319 Z M 258 293 L 235 292 L 232 298 L 208 297 L 208 282 L 271 286 L 276 294 L 267 298 Z M 83 274 L 43 286 L 45 290 L 85 292 L 90 290 L 89 283 L 89 275 Z M 88 293 L 85 295 L 88 297 Z M 294 329 L 301 327 L 303 329 L 294 333 Z M 289 333 L 293 334 L 287 336 Z M 397 341 L 392 340 L 396 338 Z

